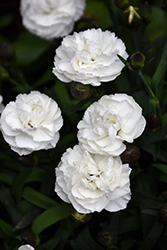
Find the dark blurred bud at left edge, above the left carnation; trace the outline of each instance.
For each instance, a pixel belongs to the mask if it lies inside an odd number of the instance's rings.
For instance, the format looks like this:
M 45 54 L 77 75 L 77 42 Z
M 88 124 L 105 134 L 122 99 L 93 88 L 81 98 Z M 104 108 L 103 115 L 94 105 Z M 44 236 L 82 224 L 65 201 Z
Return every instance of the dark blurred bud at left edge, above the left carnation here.
M 9 66 L 11 62 L 14 60 L 14 58 L 15 58 L 14 48 L 7 43 L 3 43 L 0 46 L 0 63 L 3 66 Z

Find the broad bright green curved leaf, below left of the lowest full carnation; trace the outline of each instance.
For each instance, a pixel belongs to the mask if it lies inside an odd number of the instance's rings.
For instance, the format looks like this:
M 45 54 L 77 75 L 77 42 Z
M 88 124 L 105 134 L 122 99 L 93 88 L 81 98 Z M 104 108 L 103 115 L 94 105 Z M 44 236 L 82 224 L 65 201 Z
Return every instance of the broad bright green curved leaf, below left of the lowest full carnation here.
M 70 209 L 71 206 L 68 204 L 60 204 L 49 208 L 34 220 L 31 227 L 32 231 L 36 234 L 40 234 L 44 229 L 50 227 L 60 220 L 69 217 Z

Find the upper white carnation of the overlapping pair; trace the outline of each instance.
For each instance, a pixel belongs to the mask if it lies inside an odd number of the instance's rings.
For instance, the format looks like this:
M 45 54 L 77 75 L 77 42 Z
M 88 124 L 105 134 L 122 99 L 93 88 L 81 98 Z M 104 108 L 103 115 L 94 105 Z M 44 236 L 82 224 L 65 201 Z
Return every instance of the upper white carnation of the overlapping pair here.
M 145 128 L 141 107 L 126 94 L 105 95 L 85 111 L 78 123 L 80 145 L 91 153 L 117 156 Z

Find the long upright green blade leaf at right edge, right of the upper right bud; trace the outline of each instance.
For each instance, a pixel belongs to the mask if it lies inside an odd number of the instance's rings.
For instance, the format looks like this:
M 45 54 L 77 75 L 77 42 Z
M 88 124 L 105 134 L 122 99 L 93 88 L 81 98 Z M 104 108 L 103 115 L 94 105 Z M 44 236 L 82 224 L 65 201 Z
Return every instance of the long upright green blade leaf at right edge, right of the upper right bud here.
M 165 44 L 164 50 L 162 52 L 162 57 L 161 57 L 161 61 L 158 65 L 157 70 L 155 71 L 152 81 L 151 81 L 151 85 L 152 87 L 156 90 L 158 87 L 159 82 L 162 80 L 164 73 L 167 69 L 167 43 Z

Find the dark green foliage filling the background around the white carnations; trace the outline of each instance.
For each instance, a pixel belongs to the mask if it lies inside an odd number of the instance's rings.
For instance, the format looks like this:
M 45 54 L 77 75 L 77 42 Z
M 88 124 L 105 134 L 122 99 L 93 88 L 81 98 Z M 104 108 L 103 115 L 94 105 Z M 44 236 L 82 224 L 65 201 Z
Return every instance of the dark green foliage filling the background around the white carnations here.
M 86 0 L 84 14 L 70 35 L 91 28 L 114 32 L 125 43 L 129 58 L 118 55 L 125 65 L 121 74 L 98 87 L 90 85 L 90 95 L 78 100 L 71 94 L 72 82 L 60 81 L 52 73 L 55 51 L 63 38 L 46 40 L 31 34 L 22 24 L 20 1 L 0 1 L 0 95 L 4 106 L 20 93 L 37 90 L 58 103 L 64 121 L 56 147 L 34 151 L 28 157 L 19 157 L 0 133 L 0 250 L 18 250 L 29 244 L 23 242 L 23 236 L 32 232 L 40 239 L 35 250 L 167 249 L 167 225 L 159 213 L 167 202 L 166 1 L 147 1 L 152 19 L 146 23 L 142 12 L 146 1 L 129 0 L 129 6 L 141 11 L 142 21 L 136 27 L 125 25 L 125 10 L 115 2 Z M 3 43 L 15 50 L 14 58 L 5 63 Z M 130 63 L 136 52 L 145 58 L 137 70 Z M 88 222 L 76 222 L 71 204 L 54 192 L 55 169 L 66 149 L 78 144 L 77 124 L 86 109 L 103 95 L 115 93 L 131 95 L 143 116 L 155 113 L 160 126 L 152 130 L 146 126 L 133 141 L 140 158 L 129 165 L 131 200 L 126 209 L 94 212 Z M 101 232 L 106 234 L 99 240 Z

